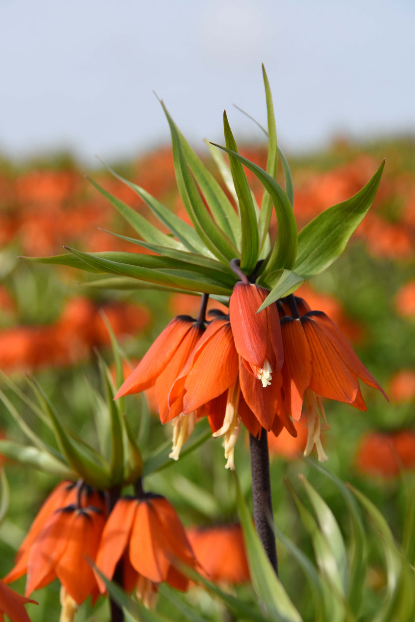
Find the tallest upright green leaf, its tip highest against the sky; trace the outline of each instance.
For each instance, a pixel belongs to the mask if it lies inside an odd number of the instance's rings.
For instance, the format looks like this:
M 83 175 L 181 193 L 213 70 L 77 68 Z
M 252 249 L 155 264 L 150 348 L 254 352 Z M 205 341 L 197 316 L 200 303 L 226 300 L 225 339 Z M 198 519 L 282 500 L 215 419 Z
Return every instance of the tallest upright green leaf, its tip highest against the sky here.
M 278 166 L 278 144 L 277 144 L 277 127 L 275 126 L 275 115 L 274 115 L 274 104 L 272 103 L 272 93 L 267 77 L 267 73 L 265 72 L 265 67 L 262 65 L 262 76 L 264 78 L 264 86 L 265 86 L 265 98 L 267 100 L 267 117 L 268 117 L 268 158 L 267 158 L 267 173 L 270 177 L 274 177 L 277 175 L 277 166 Z M 227 145 L 228 146 L 228 145 Z M 265 240 L 268 236 L 269 223 L 271 220 L 272 213 L 272 198 L 270 197 L 268 192 L 264 192 L 264 196 L 262 197 L 260 215 L 259 215 L 259 240 L 260 240 L 260 250 L 265 244 Z

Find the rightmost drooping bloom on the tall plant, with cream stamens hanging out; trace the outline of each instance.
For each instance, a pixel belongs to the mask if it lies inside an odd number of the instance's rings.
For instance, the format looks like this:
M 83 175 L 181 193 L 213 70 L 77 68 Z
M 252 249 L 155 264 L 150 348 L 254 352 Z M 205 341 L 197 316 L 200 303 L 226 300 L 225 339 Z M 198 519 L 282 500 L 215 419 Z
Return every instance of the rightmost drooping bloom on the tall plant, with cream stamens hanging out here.
M 388 399 L 381 386 L 356 356 L 344 335 L 321 311 L 311 311 L 307 303 L 295 298 L 298 317 L 284 315 L 289 307 L 284 302 L 281 330 L 284 345 L 282 366 L 282 394 L 287 415 L 300 420 L 303 399 L 307 410 L 308 455 L 317 445 L 319 460 L 326 460 L 320 442 L 321 421 L 327 427 L 321 397 L 346 402 L 365 411 L 366 405 L 358 379 L 379 389 Z

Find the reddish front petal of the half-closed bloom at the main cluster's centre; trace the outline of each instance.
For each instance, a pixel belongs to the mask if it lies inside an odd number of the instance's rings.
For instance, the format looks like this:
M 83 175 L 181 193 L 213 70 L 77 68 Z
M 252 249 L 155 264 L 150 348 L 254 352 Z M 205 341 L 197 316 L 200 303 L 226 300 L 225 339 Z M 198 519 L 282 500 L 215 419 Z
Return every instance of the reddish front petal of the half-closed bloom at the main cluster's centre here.
M 267 356 L 266 309 L 257 313 L 266 297 L 261 294 L 261 290 L 259 285 L 240 281 L 235 285 L 229 300 L 229 318 L 237 353 L 259 368 L 262 368 Z

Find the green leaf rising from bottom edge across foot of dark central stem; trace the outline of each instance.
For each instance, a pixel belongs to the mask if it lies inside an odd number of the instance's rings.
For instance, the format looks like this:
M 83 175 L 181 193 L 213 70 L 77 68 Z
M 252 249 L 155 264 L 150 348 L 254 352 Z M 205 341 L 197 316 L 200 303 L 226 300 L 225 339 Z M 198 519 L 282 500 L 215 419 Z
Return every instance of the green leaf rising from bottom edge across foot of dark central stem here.
M 273 619 L 282 622 L 302 622 L 300 614 L 275 574 L 264 547 L 255 532 L 246 501 L 241 493 L 237 475 L 235 475 L 235 483 L 236 503 L 239 518 L 241 519 L 242 531 L 244 532 L 250 577 L 254 590 L 259 596 L 262 605 L 264 605 L 265 611 Z

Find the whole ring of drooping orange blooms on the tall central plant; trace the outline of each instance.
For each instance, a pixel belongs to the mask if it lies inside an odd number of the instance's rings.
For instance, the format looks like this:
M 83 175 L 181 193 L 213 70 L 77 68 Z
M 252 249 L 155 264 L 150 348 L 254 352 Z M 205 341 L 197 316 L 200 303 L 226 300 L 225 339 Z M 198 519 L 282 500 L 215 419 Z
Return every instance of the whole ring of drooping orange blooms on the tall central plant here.
M 254 437 L 284 428 L 296 437 L 293 420 L 303 412 L 305 453 L 316 445 L 325 460 L 321 398 L 365 410 L 358 378 L 383 392 L 325 313 L 292 295 L 257 312 L 267 295 L 246 279 L 235 285 L 228 315 L 174 318 L 118 390 L 121 397 L 155 386 L 160 420 L 174 425 L 171 458 L 178 459 L 196 420 L 207 416 L 212 434 L 224 439 L 226 468 L 234 469 L 242 423 Z

